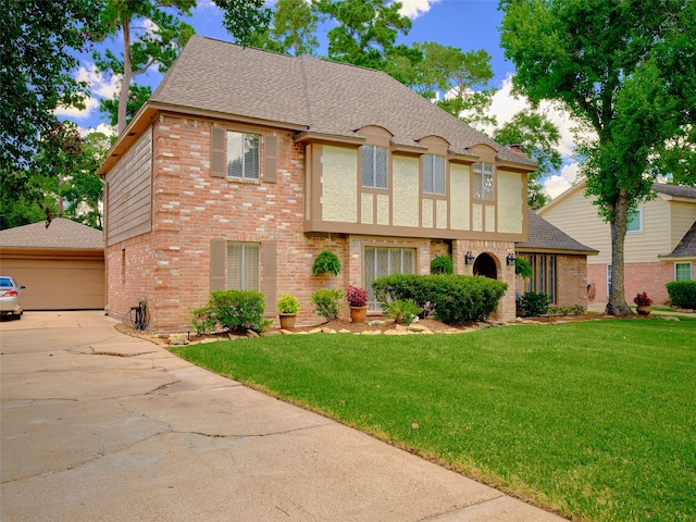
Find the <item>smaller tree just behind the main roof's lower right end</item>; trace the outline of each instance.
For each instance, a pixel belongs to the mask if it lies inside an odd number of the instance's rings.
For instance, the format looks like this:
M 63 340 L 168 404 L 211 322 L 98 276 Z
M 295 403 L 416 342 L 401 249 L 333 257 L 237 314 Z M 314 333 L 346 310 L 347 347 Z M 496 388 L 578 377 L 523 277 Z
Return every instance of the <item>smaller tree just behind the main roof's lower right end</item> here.
M 500 145 L 519 145 L 520 150 L 537 161 L 538 169 L 530 174 L 527 204 L 536 210 L 548 202 L 540 181 L 563 164 L 558 142 L 561 135 L 558 127 L 538 111 L 518 112 L 512 120 L 493 132 L 493 139 Z

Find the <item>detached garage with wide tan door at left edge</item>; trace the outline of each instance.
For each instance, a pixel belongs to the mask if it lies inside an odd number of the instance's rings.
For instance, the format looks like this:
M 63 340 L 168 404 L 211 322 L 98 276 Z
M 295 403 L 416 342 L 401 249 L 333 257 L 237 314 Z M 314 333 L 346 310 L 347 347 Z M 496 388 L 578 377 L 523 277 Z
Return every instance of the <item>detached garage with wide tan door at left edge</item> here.
M 26 286 L 25 310 L 103 309 L 102 232 L 62 217 L 0 231 L 0 274 Z

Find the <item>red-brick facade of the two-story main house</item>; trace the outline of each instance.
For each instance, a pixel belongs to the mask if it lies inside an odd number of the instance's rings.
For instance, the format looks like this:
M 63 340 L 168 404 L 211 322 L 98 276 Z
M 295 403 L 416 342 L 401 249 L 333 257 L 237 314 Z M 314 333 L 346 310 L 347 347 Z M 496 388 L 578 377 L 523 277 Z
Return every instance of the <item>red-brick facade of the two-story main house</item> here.
M 253 132 L 276 138 L 276 179 L 228 181 L 212 177 L 211 129 L 213 125 Z M 297 324 L 316 324 L 311 294 L 320 288 L 364 286 L 362 266 L 365 246 L 417 249 L 417 272 L 427 274 L 431 260 L 451 253 L 455 271 L 471 274 L 463 256 L 486 252 L 496 262 L 497 276 L 514 285 L 514 266 L 505 259 L 514 251 L 511 241 L 448 241 L 427 238 L 383 237 L 350 234 L 303 233 L 304 145 L 290 132 L 266 127 L 223 124 L 212 120 L 161 114 L 152 123 L 152 229 L 107 249 L 109 313 L 121 319 L 140 299 L 148 302 L 150 327 L 182 331 L 189 309 L 203 306 L 211 289 L 211 241 L 249 241 L 276 245 L 276 294 L 266 296 L 266 315 L 277 325 L 275 300 L 283 294 L 300 301 Z M 264 140 L 262 139 L 262 144 Z M 263 151 L 261 153 L 263 158 Z M 324 249 L 341 261 L 337 277 L 313 276 L 311 266 Z M 264 288 L 263 248 L 260 249 Z M 343 314 L 348 318 L 348 310 Z M 514 293 L 504 297 L 497 318 L 514 316 Z

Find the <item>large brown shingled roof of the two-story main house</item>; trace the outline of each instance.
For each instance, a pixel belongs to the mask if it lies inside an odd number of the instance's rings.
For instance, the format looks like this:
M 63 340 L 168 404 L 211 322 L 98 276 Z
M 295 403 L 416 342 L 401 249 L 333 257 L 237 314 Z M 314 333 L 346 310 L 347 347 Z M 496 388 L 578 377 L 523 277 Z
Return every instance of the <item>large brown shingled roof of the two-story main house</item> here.
M 486 144 L 501 161 L 536 165 L 386 73 L 201 36 L 191 37 L 150 100 L 338 137 L 358 137 L 362 126 L 378 125 L 393 134 L 396 145 L 413 147 L 436 135 L 455 153 L 470 153 L 470 147 Z

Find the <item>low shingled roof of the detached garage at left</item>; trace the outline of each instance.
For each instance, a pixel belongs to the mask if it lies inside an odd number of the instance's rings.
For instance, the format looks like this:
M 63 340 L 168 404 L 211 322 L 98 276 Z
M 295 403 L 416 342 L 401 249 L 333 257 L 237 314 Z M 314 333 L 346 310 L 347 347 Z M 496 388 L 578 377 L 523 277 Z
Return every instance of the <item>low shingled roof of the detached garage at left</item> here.
M 42 221 L 0 231 L 0 247 L 103 250 L 104 240 L 97 228 L 55 217 L 48 228 Z

